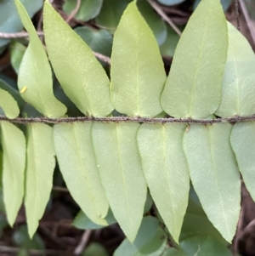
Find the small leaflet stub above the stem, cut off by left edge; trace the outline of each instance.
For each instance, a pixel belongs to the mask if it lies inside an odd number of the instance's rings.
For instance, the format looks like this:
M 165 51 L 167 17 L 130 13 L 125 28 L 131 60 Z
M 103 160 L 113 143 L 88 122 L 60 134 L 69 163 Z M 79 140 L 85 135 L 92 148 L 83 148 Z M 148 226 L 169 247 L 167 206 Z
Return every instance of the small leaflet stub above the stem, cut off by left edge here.
M 0 88 L 0 107 L 3 109 L 4 114 L 8 118 L 18 117 L 20 114 L 19 105 L 14 100 L 13 96 L 7 91 Z

